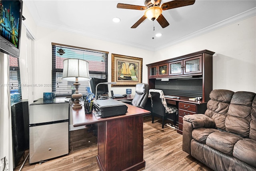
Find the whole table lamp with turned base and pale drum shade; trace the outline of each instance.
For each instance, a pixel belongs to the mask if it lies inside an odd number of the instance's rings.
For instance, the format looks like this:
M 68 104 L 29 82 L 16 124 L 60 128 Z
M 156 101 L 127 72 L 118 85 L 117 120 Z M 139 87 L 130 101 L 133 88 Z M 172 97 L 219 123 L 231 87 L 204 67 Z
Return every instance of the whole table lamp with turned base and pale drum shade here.
M 66 59 L 63 60 L 63 74 L 62 80 L 66 80 L 69 82 L 74 82 L 75 93 L 72 94 L 72 98 L 74 99 L 73 109 L 81 109 L 82 105 L 79 103 L 79 99 L 83 96 L 78 91 L 78 87 L 80 82 L 90 80 L 89 76 L 89 63 L 85 60 L 80 59 Z

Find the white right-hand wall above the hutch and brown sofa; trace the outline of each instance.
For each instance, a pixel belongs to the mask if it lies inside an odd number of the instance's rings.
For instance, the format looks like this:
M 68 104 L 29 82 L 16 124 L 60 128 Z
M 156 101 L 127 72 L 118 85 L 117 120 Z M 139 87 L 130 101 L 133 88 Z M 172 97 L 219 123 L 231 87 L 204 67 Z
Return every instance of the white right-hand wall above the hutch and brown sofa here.
M 215 52 L 213 56 L 213 89 L 256 93 L 255 25 L 256 16 L 253 16 L 208 34 L 158 50 L 154 53 L 154 62 L 207 49 Z

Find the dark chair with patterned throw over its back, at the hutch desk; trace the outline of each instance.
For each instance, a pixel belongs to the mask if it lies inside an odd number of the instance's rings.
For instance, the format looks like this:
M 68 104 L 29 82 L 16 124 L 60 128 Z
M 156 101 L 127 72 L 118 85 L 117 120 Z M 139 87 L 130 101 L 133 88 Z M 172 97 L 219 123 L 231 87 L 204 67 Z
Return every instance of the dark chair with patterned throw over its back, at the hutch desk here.
M 168 106 L 164 98 L 164 92 L 160 89 L 150 89 L 152 102 L 152 123 L 154 123 L 154 116 L 162 117 L 162 128 L 164 128 L 164 120 L 169 114 L 174 115 L 173 124 L 176 125 L 176 115 L 178 109 L 174 106 Z

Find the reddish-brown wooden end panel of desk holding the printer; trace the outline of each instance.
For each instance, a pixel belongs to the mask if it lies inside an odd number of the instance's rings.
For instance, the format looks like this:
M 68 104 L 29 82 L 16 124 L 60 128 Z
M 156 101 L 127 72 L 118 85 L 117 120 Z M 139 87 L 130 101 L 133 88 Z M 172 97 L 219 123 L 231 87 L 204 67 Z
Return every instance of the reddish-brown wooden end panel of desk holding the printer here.
M 98 161 L 104 171 L 145 166 L 142 115 L 98 124 Z

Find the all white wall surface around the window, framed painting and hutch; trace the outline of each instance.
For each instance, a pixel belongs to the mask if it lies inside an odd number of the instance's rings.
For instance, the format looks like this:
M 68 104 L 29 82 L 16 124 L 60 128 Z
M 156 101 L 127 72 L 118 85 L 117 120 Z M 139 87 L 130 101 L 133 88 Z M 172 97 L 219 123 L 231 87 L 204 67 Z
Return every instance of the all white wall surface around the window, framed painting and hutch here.
M 26 7 L 24 8 L 26 11 Z M 192 38 L 180 44 L 150 52 L 94 38 L 88 38 L 61 29 L 35 26 L 30 14 L 25 12 L 26 27 L 36 38 L 34 56 L 34 84 L 51 84 L 51 43 L 102 50 L 109 52 L 109 75 L 111 81 L 111 54 L 143 58 L 142 82 L 148 82 L 146 64 L 175 58 L 200 50 L 216 52 L 213 57 L 213 89 L 256 92 L 256 17 Z M 25 15 L 24 14 L 24 15 Z M 123 94 L 127 87 L 110 87 L 115 93 Z M 34 87 L 34 99 L 42 98 L 43 92 L 51 87 Z M 132 87 L 134 93 L 134 87 Z M 34 100 L 33 99 L 33 100 Z

